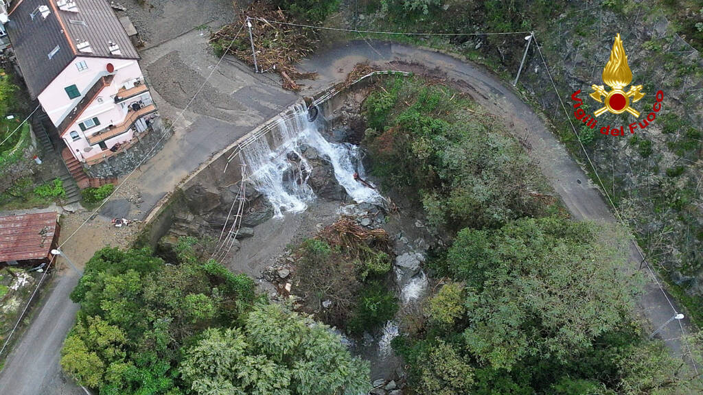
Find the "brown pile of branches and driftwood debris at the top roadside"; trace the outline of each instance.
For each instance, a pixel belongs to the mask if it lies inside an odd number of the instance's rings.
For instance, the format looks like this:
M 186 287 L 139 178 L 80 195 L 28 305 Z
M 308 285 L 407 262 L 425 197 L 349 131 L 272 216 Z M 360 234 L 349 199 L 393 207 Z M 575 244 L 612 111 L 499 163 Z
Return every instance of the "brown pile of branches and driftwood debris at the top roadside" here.
M 313 79 L 316 73 L 299 72 L 295 65 L 311 54 L 318 40 L 308 27 L 281 25 L 275 22 L 294 23 L 284 11 L 266 1 L 254 1 L 246 11 L 238 13 L 239 21 L 210 34 L 209 43 L 219 53 L 228 53 L 254 65 L 254 56 L 247 32 L 247 16 L 252 24 L 252 39 L 257 54 L 259 71 L 278 72 L 283 88 L 299 91 L 295 79 Z M 243 27 L 243 28 L 242 28 Z M 233 44 L 230 46 L 230 43 Z

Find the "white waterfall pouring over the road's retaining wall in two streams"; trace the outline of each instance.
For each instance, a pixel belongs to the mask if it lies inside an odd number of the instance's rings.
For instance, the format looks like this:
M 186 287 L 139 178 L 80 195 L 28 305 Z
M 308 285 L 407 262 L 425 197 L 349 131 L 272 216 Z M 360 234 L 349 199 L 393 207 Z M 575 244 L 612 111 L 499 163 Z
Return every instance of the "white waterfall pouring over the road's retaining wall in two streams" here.
M 330 160 L 337 182 L 356 202 L 380 201 L 381 196 L 377 190 L 354 179 L 354 173 L 364 176 L 358 158 L 359 147 L 325 140 L 318 130 L 317 122 L 308 122 L 304 105 L 295 105 L 294 114 L 279 117 L 277 125 L 270 133 L 278 148 L 272 150 L 264 136 L 242 150 L 247 175 L 254 183 L 254 188 L 271 202 L 275 216 L 280 217 L 283 212 L 302 212 L 307 209 L 307 203 L 315 198 L 313 190 L 307 184 L 312 171 L 311 164 L 299 152 L 302 145 L 315 148 L 319 155 Z M 297 155 L 299 162 L 289 160 L 290 153 Z M 299 167 L 295 169 L 296 179 L 287 177 L 292 167 Z

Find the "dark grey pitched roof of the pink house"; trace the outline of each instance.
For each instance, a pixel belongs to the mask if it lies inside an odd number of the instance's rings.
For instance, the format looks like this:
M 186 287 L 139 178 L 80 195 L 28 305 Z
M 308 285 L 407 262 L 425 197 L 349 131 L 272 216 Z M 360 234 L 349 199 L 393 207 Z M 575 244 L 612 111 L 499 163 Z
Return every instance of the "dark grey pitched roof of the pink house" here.
M 127 33 L 106 0 L 74 0 L 78 12 L 63 11 L 56 0 L 22 0 L 13 4 L 6 29 L 32 98 L 49 86 L 60 72 L 78 56 L 138 59 Z M 36 13 L 49 7 L 49 15 Z M 77 44 L 88 41 L 92 53 L 77 51 Z M 109 42 L 117 44 L 120 55 L 110 52 Z M 49 53 L 58 46 L 58 52 Z

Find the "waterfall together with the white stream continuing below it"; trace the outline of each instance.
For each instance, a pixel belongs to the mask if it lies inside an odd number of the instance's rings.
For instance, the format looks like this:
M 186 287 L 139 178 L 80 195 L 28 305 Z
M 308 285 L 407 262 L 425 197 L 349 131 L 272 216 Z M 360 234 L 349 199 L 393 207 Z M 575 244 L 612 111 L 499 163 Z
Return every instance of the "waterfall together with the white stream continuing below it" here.
M 330 123 L 321 111 L 313 122 L 309 121 L 307 108 L 302 103 L 293 106 L 288 113 L 274 121 L 276 126 L 271 128 L 271 136 L 258 138 L 241 151 L 247 178 L 273 206 L 274 218 L 270 221 L 281 221 L 316 209 L 317 196 L 310 185 L 315 161 L 305 156 L 309 148 L 331 164 L 336 182 L 357 205 L 383 205 L 385 199 L 378 190 L 355 179 L 355 175 L 366 178 L 359 146 L 328 141 L 325 135 Z M 270 141 L 277 148 L 272 148 Z M 413 257 L 416 255 L 420 257 L 418 253 Z M 400 373 L 401 363 L 391 342 L 399 335 L 404 309 L 427 292 L 429 281 L 420 268 L 421 261 L 424 261 L 423 257 L 409 271 L 407 267 L 394 266 L 394 291 L 401 305 L 394 320 L 372 333 L 364 333 L 359 339 L 349 338 L 335 330 L 355 355 L 370 361 L 372 380 L 392 380 Z

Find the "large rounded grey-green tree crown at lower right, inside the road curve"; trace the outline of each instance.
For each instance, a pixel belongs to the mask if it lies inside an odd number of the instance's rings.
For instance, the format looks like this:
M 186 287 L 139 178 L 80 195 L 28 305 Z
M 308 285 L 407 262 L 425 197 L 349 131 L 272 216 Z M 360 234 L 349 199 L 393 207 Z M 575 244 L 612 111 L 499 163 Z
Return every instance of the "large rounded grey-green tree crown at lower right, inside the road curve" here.
M 460 231 L 447 261 L 467 281 L 467 347 L 481 361 L 511 368 L 527 356 L 574 356 L 617 329 L 637 290 L 636 278 L 621 270 L 624 234 L 557 218 Z

